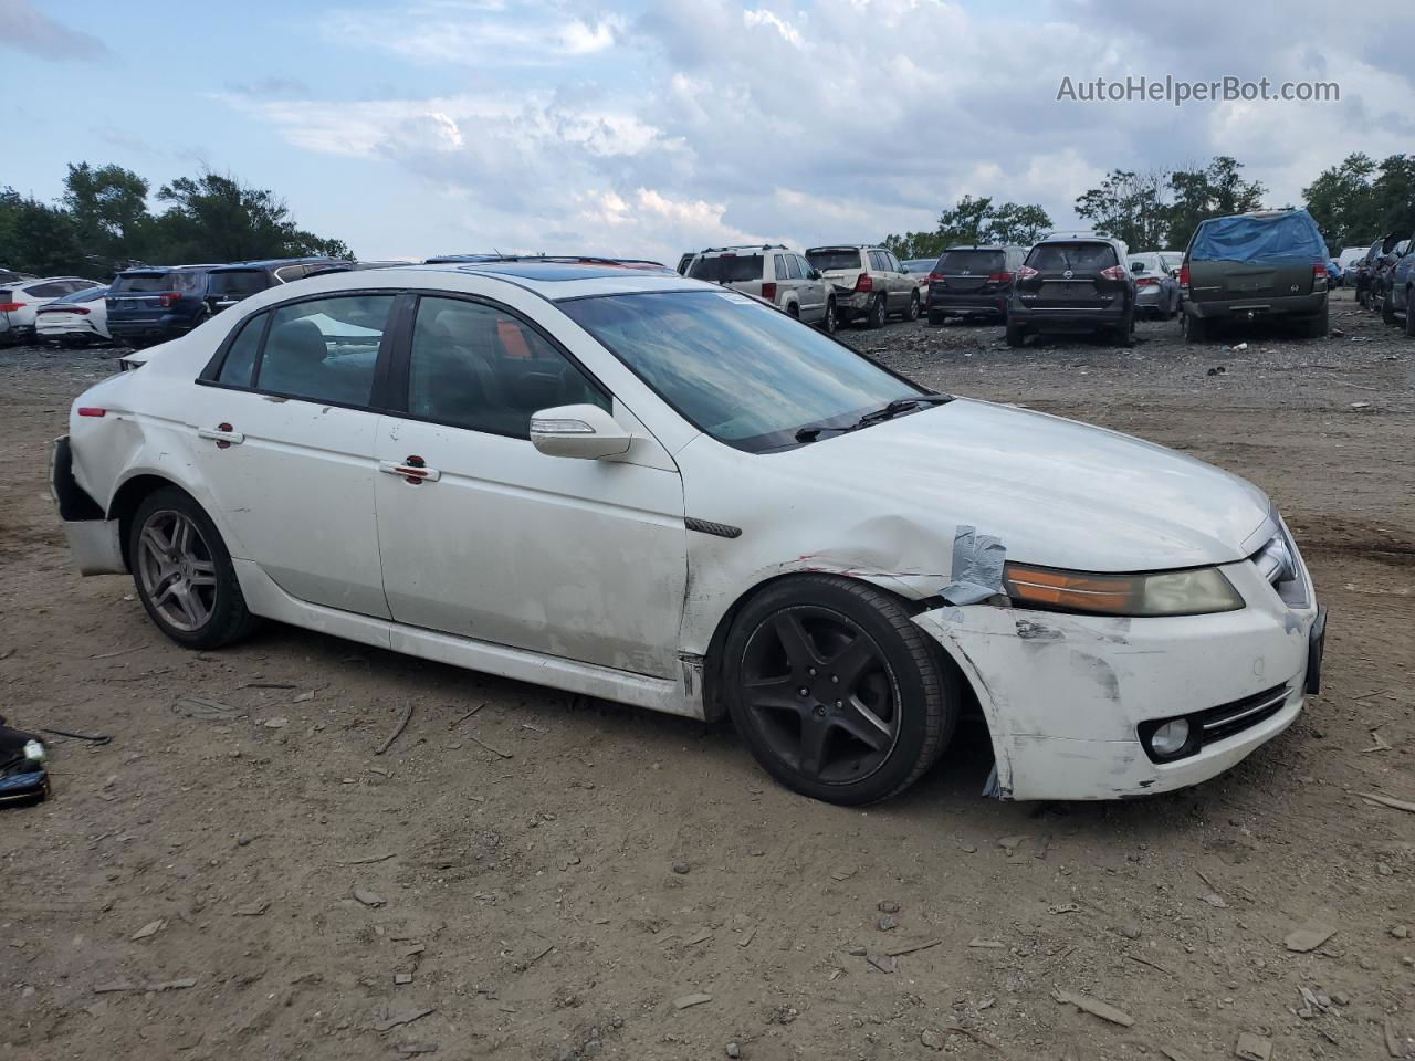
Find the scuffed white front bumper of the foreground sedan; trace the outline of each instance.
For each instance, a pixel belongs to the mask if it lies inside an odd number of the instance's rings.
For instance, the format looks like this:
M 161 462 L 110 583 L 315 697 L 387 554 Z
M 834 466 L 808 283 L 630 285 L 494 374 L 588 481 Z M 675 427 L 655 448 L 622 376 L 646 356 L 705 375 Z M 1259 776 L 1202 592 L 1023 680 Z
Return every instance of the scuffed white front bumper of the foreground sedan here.
M 1296 560 L 1300 567 L 1300 559 Z M 1223 566 L 1247 607 L 1217 615 L 1107 618 L 993 604 L 917 615 L 959 665 L 992 733 L 1010 799 L 1118 799 L 1207 781 L 1293 723 L 1306 696 L 1319 610 L 1289 607 L 1242 560 Z M 1261 696 L 1259 696 L 1261 695 Z M 1173 761 L 1152 761 L 1146 721 L 1235 719 Z M 1220 710 L 1223 709 L 1223 710 Z

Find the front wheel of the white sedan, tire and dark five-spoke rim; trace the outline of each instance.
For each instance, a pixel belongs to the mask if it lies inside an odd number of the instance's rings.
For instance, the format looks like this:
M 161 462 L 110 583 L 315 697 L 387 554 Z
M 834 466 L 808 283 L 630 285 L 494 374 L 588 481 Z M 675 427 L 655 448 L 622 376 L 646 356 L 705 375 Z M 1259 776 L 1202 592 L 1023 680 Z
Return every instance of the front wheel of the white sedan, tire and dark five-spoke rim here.
M 727 709 L 787 788 L 859 805 L 914 784 L 952 737 L 957 675 L 891 596 L 829 574 L 753 598 L 723 647 Z

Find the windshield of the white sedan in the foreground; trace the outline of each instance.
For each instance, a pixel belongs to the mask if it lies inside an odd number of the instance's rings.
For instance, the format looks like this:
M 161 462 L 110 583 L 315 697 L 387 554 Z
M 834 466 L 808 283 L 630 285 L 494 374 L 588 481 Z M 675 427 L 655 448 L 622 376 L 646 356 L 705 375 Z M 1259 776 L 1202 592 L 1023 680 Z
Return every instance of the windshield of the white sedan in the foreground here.
M 730 291 L 611 294 L 560 308 L 686 420 L 749 453 L 920 393 L 814 328 Z

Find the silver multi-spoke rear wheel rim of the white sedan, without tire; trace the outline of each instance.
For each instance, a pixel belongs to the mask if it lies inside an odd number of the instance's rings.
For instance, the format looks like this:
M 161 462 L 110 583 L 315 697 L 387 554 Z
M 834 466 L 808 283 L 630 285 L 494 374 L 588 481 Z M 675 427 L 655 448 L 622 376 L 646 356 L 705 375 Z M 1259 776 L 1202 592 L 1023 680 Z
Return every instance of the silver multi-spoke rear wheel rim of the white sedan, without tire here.
M 216 607 L 216 564 L 201 528 L 185 512 L 153 512 L 137 538 L 137 576 L 153 610 L 174 630 L 192 632 Z

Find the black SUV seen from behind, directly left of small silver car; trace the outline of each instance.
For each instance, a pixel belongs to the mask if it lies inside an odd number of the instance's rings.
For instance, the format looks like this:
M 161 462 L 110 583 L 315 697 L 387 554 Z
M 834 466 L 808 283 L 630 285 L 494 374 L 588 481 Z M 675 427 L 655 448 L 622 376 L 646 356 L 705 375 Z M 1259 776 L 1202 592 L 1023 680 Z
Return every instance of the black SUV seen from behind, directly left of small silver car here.
M 1105 332 L 1122 347 L 1135 331 L 1129 249 L 1109 236 L 1049 236 L 1027 252 L 1007 300 L 1007 345 L 1037 332 Z

